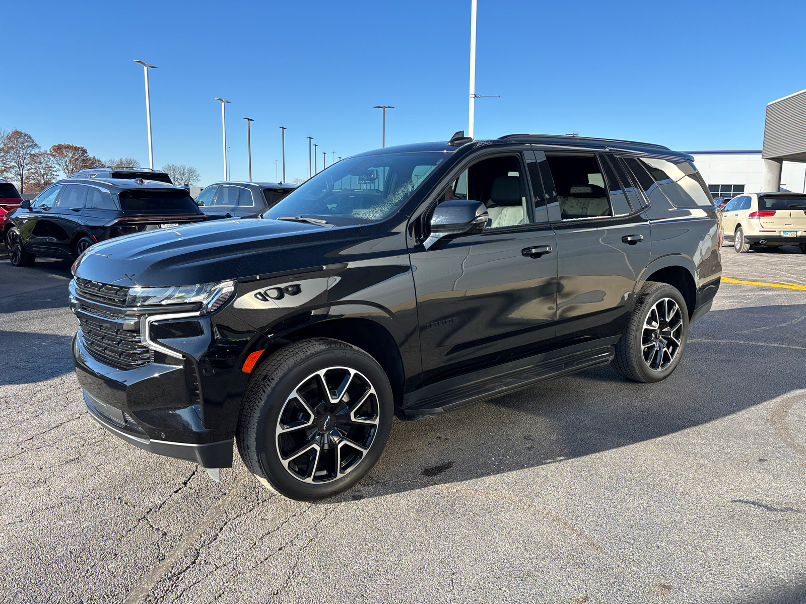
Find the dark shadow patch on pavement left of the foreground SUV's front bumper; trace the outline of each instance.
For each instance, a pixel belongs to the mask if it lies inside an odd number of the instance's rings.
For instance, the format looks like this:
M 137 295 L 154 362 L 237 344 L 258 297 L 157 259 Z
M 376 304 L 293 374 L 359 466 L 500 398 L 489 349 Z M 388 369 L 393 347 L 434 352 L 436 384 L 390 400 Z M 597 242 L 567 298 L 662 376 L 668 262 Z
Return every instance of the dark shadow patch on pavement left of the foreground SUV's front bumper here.
M 69 374 L 73 371 L 72 339 L 48 333 L 0 331 L 5 351 L 0 386 L 43 382 Z

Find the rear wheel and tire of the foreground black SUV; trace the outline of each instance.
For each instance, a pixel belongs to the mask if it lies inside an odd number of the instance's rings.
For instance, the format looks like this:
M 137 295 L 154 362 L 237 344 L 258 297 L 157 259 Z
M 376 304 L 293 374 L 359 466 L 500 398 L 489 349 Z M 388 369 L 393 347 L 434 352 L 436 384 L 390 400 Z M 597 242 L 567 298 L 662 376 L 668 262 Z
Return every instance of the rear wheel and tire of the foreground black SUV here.
M 648 281 L 638 292 L 613 367 L 635 382 L 660 382 L 675 370 L 688 341 L 688 306 L 677 288 Z

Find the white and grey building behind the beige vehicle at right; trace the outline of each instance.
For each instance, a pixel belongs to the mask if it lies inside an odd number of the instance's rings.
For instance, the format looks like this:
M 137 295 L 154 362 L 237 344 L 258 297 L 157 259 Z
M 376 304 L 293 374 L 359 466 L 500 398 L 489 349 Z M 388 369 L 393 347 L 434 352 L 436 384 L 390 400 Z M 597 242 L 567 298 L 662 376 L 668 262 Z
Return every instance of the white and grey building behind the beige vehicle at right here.
M 688 153 L 713 197 L 806 192 L 806 90 L 767 104 L 762 149 Z

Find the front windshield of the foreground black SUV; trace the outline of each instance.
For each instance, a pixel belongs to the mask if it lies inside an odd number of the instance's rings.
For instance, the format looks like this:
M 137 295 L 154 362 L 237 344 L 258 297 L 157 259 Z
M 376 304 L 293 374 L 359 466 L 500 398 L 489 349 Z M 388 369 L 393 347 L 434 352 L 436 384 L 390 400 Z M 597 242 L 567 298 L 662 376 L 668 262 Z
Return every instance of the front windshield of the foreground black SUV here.
M 391 216 L 447 157 L 444 151 L 359 155 L 334 163 L 263 213 L 311 217 L 337 226 Z

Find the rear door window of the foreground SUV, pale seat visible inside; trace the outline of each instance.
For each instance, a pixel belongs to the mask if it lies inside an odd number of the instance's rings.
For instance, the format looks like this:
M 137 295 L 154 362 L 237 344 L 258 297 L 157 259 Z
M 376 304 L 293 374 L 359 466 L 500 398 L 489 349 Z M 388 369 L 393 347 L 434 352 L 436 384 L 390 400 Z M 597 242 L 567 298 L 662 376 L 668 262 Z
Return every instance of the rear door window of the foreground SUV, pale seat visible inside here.
M 605 176 L 596 157 L 546 155 L 546 159 L 557 189 L 557 201 L 563 220 L 613 215 L 605 190 Z M 621 192 L 621 187 L 618 187 L 618 191 Z M 621 192 L 622 196 L 623 194 Z

